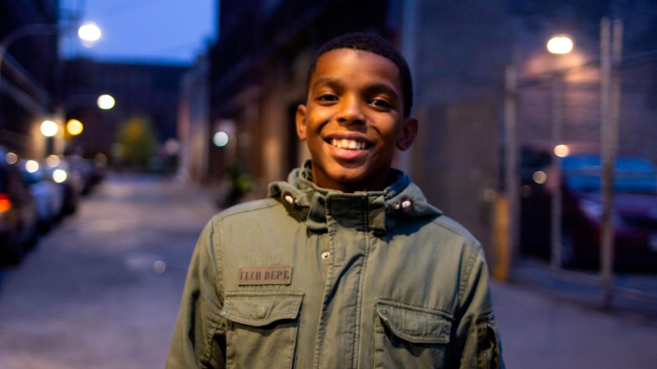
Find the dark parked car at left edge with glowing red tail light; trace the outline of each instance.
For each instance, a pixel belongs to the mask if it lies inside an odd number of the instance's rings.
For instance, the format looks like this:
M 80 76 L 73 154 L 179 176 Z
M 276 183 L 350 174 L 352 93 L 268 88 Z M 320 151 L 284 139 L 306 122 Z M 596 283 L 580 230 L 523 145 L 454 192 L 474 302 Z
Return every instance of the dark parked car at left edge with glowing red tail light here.
M 37 208 L 28 185 L 7 150 L 0 147 L 0 264 L 19 263 L 37 240 Z

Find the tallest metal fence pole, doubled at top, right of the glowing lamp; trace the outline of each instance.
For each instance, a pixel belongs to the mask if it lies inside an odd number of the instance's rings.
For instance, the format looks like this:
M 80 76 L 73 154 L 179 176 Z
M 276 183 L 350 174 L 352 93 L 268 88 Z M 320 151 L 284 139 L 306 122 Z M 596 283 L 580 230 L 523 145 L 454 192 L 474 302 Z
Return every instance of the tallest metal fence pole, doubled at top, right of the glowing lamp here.
M 600 234 L 600 282 L 602 304 L 612 303 L 614 272 L 614 163 L 618 145 L 620 76 L 622 57 L 621 20 L 614 21 L 612 38 L 609 18 L 600 21 L 600 135 L 602 143 L 602 230 Z

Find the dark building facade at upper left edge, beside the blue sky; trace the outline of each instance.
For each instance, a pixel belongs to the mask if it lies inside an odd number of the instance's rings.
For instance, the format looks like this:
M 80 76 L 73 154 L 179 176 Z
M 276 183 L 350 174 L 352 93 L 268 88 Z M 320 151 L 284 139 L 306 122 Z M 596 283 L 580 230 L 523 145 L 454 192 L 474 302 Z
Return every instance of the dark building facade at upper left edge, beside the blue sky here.
M 0 144 L 45 154 L 41 122 L 57 106 L 58 1 L 0 1 Z

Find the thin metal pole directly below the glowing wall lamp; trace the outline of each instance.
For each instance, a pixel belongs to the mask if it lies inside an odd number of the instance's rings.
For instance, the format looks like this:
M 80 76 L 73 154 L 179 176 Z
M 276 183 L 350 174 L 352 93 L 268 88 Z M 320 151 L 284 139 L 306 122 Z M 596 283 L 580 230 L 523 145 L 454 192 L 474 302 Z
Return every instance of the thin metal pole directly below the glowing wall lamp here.
M 562 118 L 563 118 L 563 105 L 564 105 L 564 86 L 563 76 L 556 74 L 552 79 L 552 99 L 551 99 L 551 123 L 552 123 L 552 148 L 561 144 L 561 131 L 562 131 Z M 553 173 L 554 177 L 551 179 L 555 184 L 551 196 L 551 259 L 550 265 L 552 269 L 561 269 L 561 221 L 562 221 L 562 173 L 561 173 L 561 158 L 552 154 Z

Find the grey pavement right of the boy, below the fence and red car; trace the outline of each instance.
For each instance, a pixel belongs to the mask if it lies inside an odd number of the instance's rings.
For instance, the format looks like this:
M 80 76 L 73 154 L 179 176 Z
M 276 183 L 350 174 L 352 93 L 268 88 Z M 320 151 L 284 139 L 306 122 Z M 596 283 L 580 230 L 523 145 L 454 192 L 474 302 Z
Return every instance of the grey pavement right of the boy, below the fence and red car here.
M 657 288 L 655 276 L 617 278 L 622 288 L 604 310 L 595 274 L 565 275 L 521 264 L 516 282 L 492 284 L 507 368 L 654 368 L 656 304 L 649 291 L 640 299 L 627 291 Z

